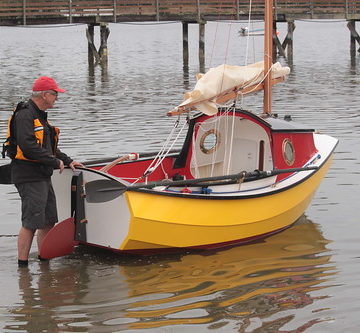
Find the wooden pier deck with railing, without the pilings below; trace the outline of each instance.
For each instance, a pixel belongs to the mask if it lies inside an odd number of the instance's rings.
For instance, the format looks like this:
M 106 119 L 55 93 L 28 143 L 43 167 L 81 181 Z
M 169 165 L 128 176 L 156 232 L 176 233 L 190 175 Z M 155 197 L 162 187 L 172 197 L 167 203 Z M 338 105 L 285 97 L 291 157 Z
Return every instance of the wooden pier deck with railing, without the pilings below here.
M 275 20 L 360 20 L 360 0 L 275 0 Z M 261 19 L 264 0 L 252 1 Z M 0 25 L 130 21 L 240 20 L 249 15 L 248 0 L 1 0 Z

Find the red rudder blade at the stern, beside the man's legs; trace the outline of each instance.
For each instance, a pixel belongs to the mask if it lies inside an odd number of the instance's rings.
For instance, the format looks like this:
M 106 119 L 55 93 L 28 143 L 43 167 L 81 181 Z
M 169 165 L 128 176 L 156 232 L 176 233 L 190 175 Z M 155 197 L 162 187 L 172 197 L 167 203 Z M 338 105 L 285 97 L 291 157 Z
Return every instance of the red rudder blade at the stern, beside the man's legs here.
M 55 224 L 41 244 L 40 257 L 52 259 L 73 253 L 74 247 L 77 245 L 74 236 L 74 218 L 70 217 Z

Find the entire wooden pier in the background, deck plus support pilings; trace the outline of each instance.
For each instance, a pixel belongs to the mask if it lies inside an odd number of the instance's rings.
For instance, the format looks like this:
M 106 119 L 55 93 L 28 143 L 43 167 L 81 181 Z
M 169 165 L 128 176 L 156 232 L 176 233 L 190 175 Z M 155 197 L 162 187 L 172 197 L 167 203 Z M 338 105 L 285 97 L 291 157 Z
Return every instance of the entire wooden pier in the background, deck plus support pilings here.
M 263 17 L 263 1 L 253 1 L 252 16 Z M 274 1 L 274 30 L 276 24 L 287 23 L 287 35 L 283 41 L 274 34 L 273 57 L 286 57 L 293 61 L 293 38 L 296 19 L 346 19 L 350 30 L 350 53 L 356 55 L 360 36 L 356 31 L 356 22 L 360 20 L 360 0 L 324 1 L 301 0 Z M 199 66 L 205 69 L 205 24 L 210 20 L 247 19 L 249 15 L 248 1 L 232 0 L 1 0 L 0 25 L 32 25 L 85 23 L 88 40 L 89 64 L 106 65 L 107 38 L 110 30 L 106 26 L 110 22 L 128 21 L 166 21 L 180 20 L 183 28 L 183 62 L 189 65 L 188 24 L 199 26 Z M 94 26 L 100 26 L 100 47 L 94 45 Z

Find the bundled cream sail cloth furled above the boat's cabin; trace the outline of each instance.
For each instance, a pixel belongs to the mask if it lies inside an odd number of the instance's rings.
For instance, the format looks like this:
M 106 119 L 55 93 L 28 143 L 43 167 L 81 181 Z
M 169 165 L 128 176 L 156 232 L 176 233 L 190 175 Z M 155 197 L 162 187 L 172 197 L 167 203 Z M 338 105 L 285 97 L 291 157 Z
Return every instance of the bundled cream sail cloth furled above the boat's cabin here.
M 277 62 L 272 66 L 271 72 L 272 78 L 276 79 L 289 74 L 290 68 Z M 205 74 L 198 74 L 197 79 L 194 90 L 185 93 L 184 101 L 179 107 L 192 104 L 202 113 L 213 115 L 218 108 L 214 100 L 220 94 L 234 87 L 246 88 L 263 81 L 264 62 L 248 66 L 220 65 L 210 68 Z

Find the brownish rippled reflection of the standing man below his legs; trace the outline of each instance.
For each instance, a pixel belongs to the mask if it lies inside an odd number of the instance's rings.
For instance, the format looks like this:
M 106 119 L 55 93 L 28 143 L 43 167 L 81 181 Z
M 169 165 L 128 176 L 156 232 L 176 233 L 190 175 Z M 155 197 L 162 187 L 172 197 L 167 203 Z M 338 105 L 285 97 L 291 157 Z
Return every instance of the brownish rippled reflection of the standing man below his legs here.
M 75 313 L 59 313 L 58 308 L 81 302 L 81 290 L 88 283 L 86 270 L 74 266 L 53 270 L 49 262 L 42 262 L 37 272 L 19 268 L 18 276 L 22 301 L 9 310 L 14 320 L 4 327 L 4 332 L 70 332 L 62 327 L 76 325 L 78 320 L 83 326 L 86 314 L 79 319 Z

